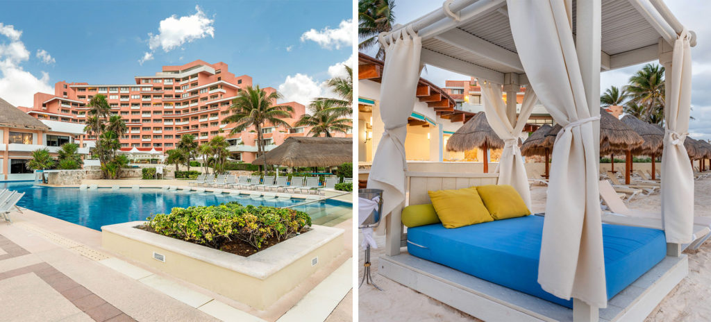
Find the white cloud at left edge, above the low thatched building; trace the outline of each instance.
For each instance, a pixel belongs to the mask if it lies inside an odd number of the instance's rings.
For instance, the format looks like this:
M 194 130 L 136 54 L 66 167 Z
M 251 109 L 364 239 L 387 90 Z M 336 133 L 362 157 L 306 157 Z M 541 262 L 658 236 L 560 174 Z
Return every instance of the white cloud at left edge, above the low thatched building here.
M 49 85 L 48 73 L 42 72 L 37 78 L 32 73 L 22 69 L 21 63 L 29 60 L 30 52 L 20 41 L 22 31 L 12 25 L 0 23 L 0 95 L 16 106 L 31 107 L 33 95 L 36 92 L 53 93 L 54 87 Z M 10 43 L 5 43 L 5 39 Z

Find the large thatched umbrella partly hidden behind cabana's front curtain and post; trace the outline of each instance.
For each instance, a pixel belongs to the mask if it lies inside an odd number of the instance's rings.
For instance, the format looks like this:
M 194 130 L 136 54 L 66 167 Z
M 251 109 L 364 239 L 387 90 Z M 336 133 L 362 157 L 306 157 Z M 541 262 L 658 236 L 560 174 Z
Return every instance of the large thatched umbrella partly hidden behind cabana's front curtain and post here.
M 560 132 L 562 127 L 553 127 L 546 134 L 546 139 L 543 144 L 552 144 L 555 142 L 555 136 Z M 641 136 L 634 129 L 624 124 L 622 121 L 609 114 L 605 109 L 600 109 L 600 154 L 611 154 L 612 171 L 614 171 L 614 153 L 624 151 L 627 154 L 627 164 L 625 171 L 625 183 L 630 182 L 630 172 L 632 166 L 631 150 L 636 149 L 644 142 Z

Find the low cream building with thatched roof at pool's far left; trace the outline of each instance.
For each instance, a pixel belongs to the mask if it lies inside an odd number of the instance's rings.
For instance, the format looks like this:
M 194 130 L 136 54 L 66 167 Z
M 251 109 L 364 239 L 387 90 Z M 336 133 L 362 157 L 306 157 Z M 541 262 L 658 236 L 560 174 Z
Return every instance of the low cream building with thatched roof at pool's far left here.
M 65 143 L 83 145 L 84 124 L 35 119 L 24 114 L 0 97 L 0 181 L 32 180 L 34 174 L 26 167 L 32 152 L 48 149 L 57 155 Z M 83 147 L 79 154 L 89 154 Z

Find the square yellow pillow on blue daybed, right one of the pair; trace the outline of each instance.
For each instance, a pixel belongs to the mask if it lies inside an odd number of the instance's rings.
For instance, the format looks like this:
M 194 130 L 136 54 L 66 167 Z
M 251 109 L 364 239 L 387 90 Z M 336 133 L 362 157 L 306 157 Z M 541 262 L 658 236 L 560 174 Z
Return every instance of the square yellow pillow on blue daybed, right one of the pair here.
M 478 186 L 476 191 L 495 220 L 530 215 L 521 195 L 509 185 Z

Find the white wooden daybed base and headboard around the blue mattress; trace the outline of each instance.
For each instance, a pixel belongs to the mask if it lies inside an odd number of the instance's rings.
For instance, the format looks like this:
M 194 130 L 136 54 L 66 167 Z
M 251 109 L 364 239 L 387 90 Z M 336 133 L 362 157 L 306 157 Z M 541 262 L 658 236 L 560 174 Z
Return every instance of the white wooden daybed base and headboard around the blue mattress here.
M 405 202 L 387 216 L 386 254 L 380 257 L 378 273 L 484 321 L 644 321 L 688 275 L 688 257 L 680 254 L 679 245 L 667 245 L 668 256 L 611 299 L 607 308 L 574 299 L 570 309 L 414 257 L 401 248 L 407 245 L 402 208 L 430 203 L 428 190 L 496 184 L 498 174 L 406 172 L 405 176 Z

